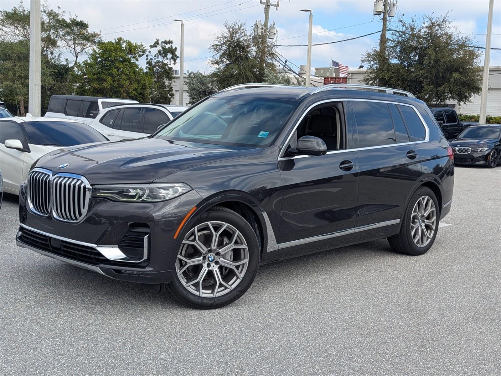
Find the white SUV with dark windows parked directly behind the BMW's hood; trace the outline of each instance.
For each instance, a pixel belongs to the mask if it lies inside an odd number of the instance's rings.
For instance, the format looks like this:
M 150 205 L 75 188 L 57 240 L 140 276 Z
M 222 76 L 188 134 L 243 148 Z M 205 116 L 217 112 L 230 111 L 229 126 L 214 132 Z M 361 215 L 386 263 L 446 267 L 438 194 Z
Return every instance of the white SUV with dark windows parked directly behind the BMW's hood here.
M 112 141 L 145 137 L 187 108 L 152 103 L 116 105 L 101 111 L 91 127 Z

